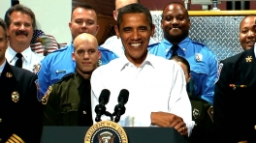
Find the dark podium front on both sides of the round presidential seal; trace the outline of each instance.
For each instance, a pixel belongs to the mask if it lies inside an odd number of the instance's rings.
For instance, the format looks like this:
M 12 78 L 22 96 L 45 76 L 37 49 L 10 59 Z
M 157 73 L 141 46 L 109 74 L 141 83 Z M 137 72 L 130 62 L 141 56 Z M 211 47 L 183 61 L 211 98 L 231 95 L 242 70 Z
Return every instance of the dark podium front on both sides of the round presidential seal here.
M 44 127 L 41 143 L 83 143 L 89 127 Z M 174 128 L 123 128 L 128 143 L 187 143 Z

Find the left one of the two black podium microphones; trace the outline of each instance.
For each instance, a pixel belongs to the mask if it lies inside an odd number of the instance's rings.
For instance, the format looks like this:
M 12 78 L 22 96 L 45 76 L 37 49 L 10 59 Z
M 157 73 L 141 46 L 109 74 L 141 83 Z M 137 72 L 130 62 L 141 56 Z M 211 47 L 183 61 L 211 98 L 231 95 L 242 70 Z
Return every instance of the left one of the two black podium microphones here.
M 109 112 L 106 111 L 105 105 L 109 102 L 110 95 L 111 95 L 111 92 L 108 89 L 102 90 L 101 95 L 99 97 L 99 104 L 96 105 L 95 109 L 94 109 L 94 111 L 96 113 L 96 118 L 95 118 L 96 122 L 101 121 L 101 116 L 102 115 L 109 113 Z

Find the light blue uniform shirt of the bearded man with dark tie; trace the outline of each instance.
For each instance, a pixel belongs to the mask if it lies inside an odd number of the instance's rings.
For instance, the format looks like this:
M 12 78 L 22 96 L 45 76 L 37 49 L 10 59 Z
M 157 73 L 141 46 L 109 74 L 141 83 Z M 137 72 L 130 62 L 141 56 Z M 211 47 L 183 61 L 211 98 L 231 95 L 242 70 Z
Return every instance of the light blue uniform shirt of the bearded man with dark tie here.
M 172 43 L 164 39 L 161 43 L 149 45 L 148 50 L 151 54 L 170 59 L 173 54 L 172 46 Z M 178 46 L 176 53 L 189 62 L 192 80 L 200 81 L 194 84 L 194 95 L 212 104 L 218 69 L 216 56 L 206 45 L 193 42 L 188 37 L 178 43 Z

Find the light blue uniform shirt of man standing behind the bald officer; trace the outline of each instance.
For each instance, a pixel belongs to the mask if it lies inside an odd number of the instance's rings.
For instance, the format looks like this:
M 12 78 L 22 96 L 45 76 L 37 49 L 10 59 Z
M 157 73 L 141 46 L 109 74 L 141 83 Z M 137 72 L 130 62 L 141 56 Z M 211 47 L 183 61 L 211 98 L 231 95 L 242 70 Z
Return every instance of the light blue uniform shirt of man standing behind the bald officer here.
M 117 58 L 110 50 L 99 47 L 101 51 L 100 65 L 108 64 L 112 59 Z M 42 99 L 48 90 L 48 86 L 59 81 L 64 75 L 75 72 L 76 62 L 72 60 L 74 52 L 73 43 L 66 45 L 65 48 L 58 49 L 50 54 L 41 62 L 38 79 L 40 85 L 40 96 Z

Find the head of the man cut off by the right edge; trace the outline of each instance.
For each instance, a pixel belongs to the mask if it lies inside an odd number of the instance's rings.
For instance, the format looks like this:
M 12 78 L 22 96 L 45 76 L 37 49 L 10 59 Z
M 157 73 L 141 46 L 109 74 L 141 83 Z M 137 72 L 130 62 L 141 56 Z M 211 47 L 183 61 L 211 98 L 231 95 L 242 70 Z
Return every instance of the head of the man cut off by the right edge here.
M 248 50 L 255 42 L 256 14 L 246 15 L 240 22 L 240 46 L 243 50 Z

